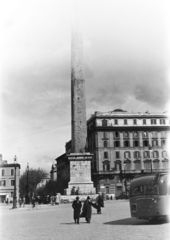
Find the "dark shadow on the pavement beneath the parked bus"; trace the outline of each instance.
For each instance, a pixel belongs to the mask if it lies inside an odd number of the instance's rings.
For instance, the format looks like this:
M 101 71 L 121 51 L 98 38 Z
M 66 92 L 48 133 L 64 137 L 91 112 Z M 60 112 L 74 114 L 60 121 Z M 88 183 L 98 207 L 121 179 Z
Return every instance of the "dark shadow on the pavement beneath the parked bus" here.
M 111 222 L 105 222 L 104 224 L 108 225 L 160 225 L 164 223 L 169 223 L 167 218 L 159 219 L 159 220 L 140 220 L 136 218 L 125 218 Z

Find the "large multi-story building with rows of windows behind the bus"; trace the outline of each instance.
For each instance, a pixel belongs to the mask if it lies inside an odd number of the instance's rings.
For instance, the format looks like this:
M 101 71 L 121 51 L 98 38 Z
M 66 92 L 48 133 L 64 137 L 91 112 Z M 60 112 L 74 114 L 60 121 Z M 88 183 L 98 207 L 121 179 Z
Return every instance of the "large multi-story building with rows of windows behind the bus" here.
M 165 113 L 95 112 L 87 121 L 88 151 L 94 154 L 97 191 L 122 191 L 136 175 L 169 169 L 170 122 Z

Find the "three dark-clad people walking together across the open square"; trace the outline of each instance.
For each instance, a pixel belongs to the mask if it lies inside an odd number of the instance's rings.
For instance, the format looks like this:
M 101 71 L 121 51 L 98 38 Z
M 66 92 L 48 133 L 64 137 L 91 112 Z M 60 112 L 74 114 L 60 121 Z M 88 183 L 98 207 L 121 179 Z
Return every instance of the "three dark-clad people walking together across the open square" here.
M 75 223 L 79 224 L 80 218 L 85 218 L 87 223 L 91 221 L 91 214 L 92 214 L 92 207 L 97 209 L 97 213 L 101 214 L 101 207 L 104 207 L 104 202 L 102 196 L 99 194 L 96 198 L 96 202 L 93 203 L 91 198 L 88 196 L 85 200 L 83 207 L 80 201 L 80 198 L 77 196 L 76 199 L 73 201 L 72 207 L 74 209 L 73 218 Z M 82 209 L 82 212 L 81 212 Z

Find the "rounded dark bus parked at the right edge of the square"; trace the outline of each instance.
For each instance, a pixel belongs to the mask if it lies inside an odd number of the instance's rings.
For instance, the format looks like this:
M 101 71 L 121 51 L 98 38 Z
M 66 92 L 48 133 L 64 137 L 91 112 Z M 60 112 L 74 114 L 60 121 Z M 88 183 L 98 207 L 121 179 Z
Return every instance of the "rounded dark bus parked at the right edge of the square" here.
M 169 173 L 155 173 L 134 179 L 130 184 L 131 216 L 155 220 L 170 214 Z

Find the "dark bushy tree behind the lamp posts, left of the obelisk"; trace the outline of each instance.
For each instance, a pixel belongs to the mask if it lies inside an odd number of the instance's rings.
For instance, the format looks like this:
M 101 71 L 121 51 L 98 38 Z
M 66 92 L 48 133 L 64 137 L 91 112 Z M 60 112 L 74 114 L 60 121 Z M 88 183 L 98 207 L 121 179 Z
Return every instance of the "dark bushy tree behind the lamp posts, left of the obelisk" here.
M 41 168 L 38 168 L 38 169 L 31 168 L 29 169 L 28 173 L 25 170 L 25 172 L 21 175 L 20 181 L 19 181 L 20 196 L 27 195 L 27 187 L 28 187 L 28 195 L 29 197 L 31 197 L 33 193 L 35 193 L 38 183 L 40 183 L 43 178 L 47 177 L 47 175 L 48 173 Z

